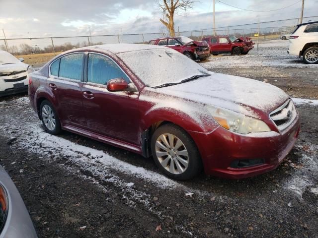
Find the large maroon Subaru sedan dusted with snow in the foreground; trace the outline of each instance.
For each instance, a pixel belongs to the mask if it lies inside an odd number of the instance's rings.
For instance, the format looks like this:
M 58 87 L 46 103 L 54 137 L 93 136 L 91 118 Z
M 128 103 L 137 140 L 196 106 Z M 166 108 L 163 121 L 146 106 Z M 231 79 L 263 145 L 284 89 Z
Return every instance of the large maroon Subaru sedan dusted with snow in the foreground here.
M 245 178 L 275 169 L 299 133 L 281 89 L 214 73 L 166 47 L 111 44 L 64 52 L 29 76 L 31 106 L 61 129 L 145 157 L 173 179 Z

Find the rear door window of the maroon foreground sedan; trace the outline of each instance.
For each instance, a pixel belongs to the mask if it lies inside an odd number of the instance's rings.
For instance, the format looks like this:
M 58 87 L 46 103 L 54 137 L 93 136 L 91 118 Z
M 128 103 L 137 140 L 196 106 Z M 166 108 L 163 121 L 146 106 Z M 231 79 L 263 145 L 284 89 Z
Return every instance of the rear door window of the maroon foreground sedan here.
M 71 54 L 61 58 L 60 77 L 80 80 L 83 70 L 83 53 Z

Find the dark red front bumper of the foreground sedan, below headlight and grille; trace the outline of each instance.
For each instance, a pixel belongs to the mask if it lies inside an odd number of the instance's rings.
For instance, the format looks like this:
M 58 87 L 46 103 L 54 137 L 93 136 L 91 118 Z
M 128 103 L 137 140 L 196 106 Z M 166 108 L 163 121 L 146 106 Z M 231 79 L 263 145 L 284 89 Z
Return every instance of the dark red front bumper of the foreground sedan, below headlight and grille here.
M 299 130 L 297 116 L 282 134 L 260 132 L 264 134 L 252 137 L 233 133 L 221 126 L 208 134 L 188 132 L 199 147 L 207 175 L 242 179 L 274 170 L 294 147 Z M 233 168 L 237 161 L 259 159 L 263 161 L 262 164 Z

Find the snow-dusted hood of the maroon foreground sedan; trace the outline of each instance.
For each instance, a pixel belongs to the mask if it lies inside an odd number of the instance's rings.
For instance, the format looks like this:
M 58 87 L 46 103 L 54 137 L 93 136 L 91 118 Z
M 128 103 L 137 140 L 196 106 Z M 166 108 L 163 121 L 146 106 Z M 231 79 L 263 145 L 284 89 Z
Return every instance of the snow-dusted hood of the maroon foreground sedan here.
M 268 119 L 268 114 L 289 98 L 271 84 L 221 73 L 159 88 L 157 92 L 259 119 Z

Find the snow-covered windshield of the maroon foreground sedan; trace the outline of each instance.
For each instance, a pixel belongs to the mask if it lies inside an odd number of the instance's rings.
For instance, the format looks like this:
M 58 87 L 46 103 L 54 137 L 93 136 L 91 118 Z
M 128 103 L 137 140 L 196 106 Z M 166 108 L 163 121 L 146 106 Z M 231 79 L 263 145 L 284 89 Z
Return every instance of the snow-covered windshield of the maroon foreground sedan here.
M 178 83 L 209 71 L 172 49 L 131 51 L 117 54 L 149 87 Z

